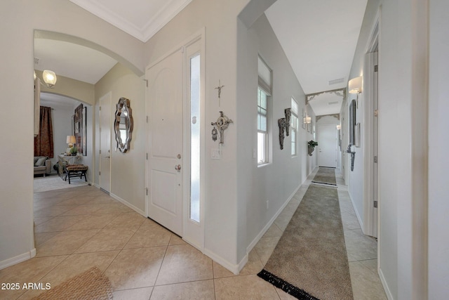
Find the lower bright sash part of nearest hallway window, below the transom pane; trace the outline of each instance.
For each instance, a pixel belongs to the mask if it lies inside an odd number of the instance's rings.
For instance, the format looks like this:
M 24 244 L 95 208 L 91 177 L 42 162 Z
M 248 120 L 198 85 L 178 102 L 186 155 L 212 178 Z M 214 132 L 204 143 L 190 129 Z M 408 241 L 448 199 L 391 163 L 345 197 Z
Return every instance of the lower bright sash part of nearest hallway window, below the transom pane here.
M 267 94 L 257 88 L 257 164 L 266 164 L 267 162 Z

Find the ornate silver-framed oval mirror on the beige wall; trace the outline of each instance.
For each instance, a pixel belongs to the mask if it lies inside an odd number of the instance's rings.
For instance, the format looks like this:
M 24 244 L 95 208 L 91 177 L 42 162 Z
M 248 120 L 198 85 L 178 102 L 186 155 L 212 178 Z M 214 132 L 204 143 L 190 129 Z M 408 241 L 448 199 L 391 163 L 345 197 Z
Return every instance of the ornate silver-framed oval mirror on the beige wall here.
M 120 98 L 115 112 L 115 141 L 117 148 L 123 153 L 129 150 L 133 134 L 133 115 L 129 102 L 127 98 Z

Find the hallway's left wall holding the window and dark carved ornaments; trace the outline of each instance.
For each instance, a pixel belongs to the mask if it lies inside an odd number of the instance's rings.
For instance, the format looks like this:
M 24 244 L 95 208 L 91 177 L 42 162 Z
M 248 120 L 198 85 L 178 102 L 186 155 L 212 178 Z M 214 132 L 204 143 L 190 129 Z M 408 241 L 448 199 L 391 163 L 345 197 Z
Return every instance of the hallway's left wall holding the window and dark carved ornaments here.
M 285 136 L 283 150 L 279 144 L 278 119 L 297 100 L 300 115 L 305 107 L 304 91 L 276 39 L 265 15 L 248 28 L 239 21 L 237 56 L 237 190 L 239 215 L 246 221 L 246 247 L 254 246 L 284 204 L 305 180 L 307 141 L 310 134 L 298 129 L 298 155 L 291 156 L 290 136 Z M 257 167 L 253 151 L 257 149 L 257 56 L 260 55 L 273 72 L 271 112 L 269 112 L 269 164 Z M 309 114 L 311 115 L 311 114 Z M 301 116 L 298 116 L 301 118 Z M 301 124 L 300 124 L 301 126 Z M 267 204 L 268 202 L 268 204 Z M 246 204 L 246 206 L 244 206 Z

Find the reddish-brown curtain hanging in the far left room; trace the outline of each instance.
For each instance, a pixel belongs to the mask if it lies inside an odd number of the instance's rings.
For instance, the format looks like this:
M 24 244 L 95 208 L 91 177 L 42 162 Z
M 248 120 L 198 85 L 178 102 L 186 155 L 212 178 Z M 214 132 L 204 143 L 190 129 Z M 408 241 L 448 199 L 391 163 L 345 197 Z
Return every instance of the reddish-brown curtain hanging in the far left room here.
M 39 135 L 34 138 L 34 156 L 53 157 L 53 122 L 51 107 L 41 106 Z

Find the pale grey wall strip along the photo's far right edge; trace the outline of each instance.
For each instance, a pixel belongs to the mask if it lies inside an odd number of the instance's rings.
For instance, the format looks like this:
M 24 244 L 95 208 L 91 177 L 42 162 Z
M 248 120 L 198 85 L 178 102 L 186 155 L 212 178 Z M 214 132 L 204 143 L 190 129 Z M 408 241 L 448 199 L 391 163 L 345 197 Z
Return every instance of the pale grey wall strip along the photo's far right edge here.
M 429 299 L 449 294 L 449 2 L 430 1 L 429 35 Z

